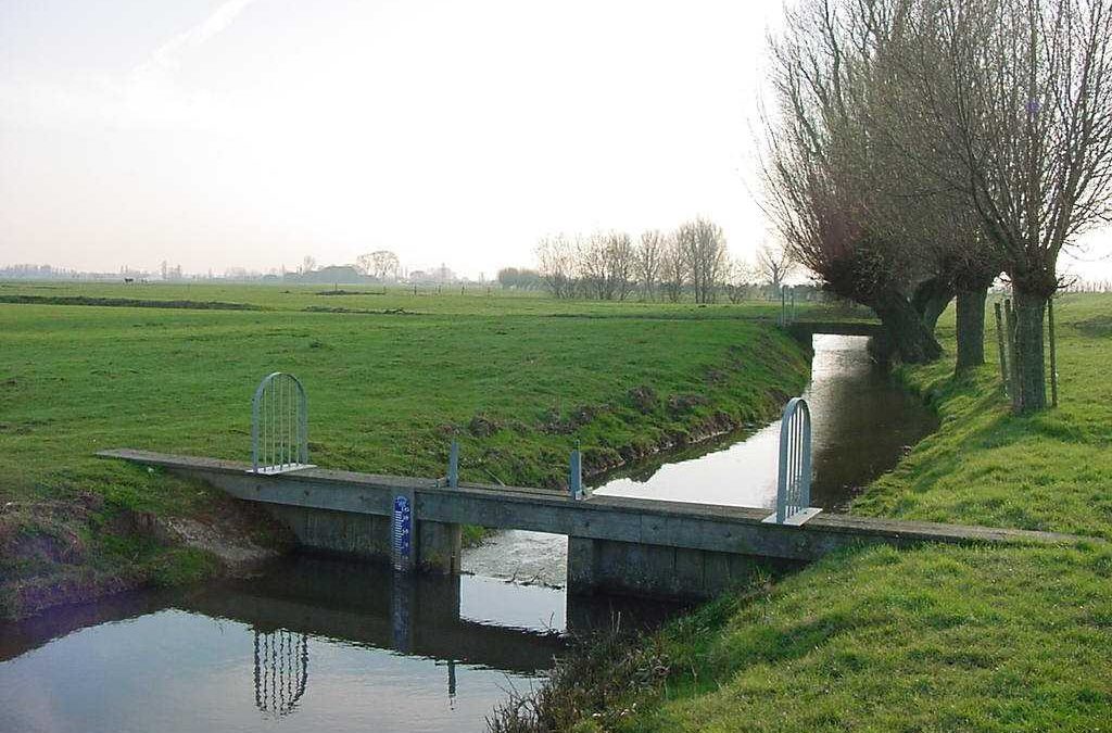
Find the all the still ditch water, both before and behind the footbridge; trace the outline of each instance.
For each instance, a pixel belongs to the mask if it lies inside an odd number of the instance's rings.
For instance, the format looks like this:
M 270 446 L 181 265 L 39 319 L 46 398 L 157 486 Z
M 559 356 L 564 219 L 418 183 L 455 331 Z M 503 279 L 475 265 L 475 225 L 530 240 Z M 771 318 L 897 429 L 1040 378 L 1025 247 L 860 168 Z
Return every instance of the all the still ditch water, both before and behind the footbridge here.
M 816 337 L 813 503 L 837 507 L 932 430 L 864 339 Z M 768 506 L 777 425 L 607 477 L 600 494 Z M 0 733 L 481 731 L 567 632 L 676 606 L 562 590 L 566 538 L 507 532 L 456 578 L 298 557 L 259 577 L 0 624 Z

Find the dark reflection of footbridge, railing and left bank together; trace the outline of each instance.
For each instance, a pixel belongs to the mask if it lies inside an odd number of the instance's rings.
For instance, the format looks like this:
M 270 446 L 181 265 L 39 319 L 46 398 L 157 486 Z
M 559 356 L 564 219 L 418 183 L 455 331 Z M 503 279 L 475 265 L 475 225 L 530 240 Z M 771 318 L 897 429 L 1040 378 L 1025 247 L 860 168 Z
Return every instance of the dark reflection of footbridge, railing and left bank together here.
M 464 587 L 467 584 L 474 585 Z M 478 605 L 473 607 L 476 600 Z M 312 660 L 315 645 L 321 643 L 425 657 L 444 667 L 444 690 L 450 702 L 458 665 L 532 675 L 552 667 L 553 657 L 564 647 L 560 632 L 567 628 L 606 626 L 618 613 L 623 627 L 638 618 L 655 623 L 675 607 L 654 604 L 646 608 L 631 598 L 585 598 L 493 578 L 395 574 L 379 564 L 296 557 L 260 577 L 200 590 L 126 594 L 57 610 L 21 624 L 19 634 L 4 635 L 0 661 L 83 627 L 180 610 L 247 626 L 246 633 L 229 637 L 246 663 L 240 692 L 235 694 L 247 700 L 254 696 L 260 711 L 277 719 L 296 716 L 299 705 L 312 696 L 314 674 L 319 680 L 326 673 Z M 468 614 L 535 621 L 529 622 L 533 627 L 524 628 L 476 621 Z M 545 627 L 550 616 L 556 618 L 554 630 Z M 458 677 L 458 683 L 465 680 Z

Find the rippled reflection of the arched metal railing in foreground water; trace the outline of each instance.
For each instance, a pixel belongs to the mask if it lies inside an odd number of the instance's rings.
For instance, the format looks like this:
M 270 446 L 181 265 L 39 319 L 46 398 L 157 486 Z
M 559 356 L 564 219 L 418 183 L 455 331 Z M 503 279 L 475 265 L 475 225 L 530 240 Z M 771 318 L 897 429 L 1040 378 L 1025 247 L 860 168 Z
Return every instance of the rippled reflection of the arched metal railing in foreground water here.
M 294 712 L 309 680 L 309 640 L 279 628 L 255 630 L 255 705 L 276 716 Z

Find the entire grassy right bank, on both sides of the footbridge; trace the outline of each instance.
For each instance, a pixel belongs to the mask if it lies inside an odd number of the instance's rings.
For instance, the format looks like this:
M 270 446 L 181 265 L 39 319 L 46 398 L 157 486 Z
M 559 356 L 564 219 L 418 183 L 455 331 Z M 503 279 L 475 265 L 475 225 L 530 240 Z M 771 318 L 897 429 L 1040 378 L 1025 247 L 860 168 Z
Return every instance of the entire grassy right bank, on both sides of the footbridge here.
M 557 675 L 548 694 L 570 704 L 543 725 L 1112 730 L 1112 297 L 1068 296 L 1058 315 L 1059 409 L 1010 415 L 992 365 L 960 380 L 947 364 L 904 370 L 942 427 L 853 511 L 1070 532 L 1091 545 L 833 555 L 578 673 L 608 683 Z

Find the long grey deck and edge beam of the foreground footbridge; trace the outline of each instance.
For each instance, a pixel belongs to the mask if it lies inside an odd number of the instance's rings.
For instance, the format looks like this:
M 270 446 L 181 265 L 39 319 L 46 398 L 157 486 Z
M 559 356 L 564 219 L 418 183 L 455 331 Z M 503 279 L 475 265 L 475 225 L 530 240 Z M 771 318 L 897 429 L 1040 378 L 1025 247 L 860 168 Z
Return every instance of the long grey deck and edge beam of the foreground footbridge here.
M 247 501 L 388 516 L 397 492 L 413 492 L 415 518 L 490 528 L 532 529 L 574 537 L 808 561 L 862 543 L 1075 544 L 1050 532 L 903 522 L 823 513 L 802 526 L 762 522 L 768 511 L 614 496 L 574 501 L 539 488 L 306 468 L 277 476 L 248 473 L 247 463 L 115 449 L 122 458 L 203 478 Z

